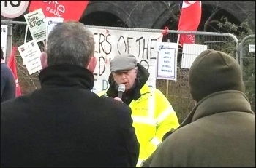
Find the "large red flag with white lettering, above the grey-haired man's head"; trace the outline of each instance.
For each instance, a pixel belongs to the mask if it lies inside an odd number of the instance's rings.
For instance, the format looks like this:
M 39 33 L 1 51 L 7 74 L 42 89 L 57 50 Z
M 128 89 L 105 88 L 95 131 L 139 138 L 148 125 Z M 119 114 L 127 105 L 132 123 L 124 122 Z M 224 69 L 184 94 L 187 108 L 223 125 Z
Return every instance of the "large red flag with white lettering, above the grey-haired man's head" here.
M 89 1 L 30 1 L 29 12 L 42 8 L 45 17 L 80 20 Z

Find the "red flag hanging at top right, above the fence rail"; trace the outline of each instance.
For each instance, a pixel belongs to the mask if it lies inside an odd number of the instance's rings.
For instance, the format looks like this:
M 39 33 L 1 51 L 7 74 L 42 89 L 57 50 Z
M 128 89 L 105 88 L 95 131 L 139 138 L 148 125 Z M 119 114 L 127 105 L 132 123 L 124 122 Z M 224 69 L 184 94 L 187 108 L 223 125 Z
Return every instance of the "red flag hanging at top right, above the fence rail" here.
M 197 31 L 201 20 L 201 1 L 183 1 L 181 16 L 178 21 L 178 31 Z M 179 43 L 195 44 L 194 34 L 181 34 Z

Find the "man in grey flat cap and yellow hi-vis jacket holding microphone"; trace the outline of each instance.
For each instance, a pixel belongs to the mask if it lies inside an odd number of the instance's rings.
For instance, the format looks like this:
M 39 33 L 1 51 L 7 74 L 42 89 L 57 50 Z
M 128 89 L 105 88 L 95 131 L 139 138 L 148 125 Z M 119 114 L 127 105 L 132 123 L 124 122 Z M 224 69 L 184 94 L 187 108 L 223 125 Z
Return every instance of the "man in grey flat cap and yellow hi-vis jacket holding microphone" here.
M 149 73 L 143 65 L 137 63 L 136 57 L 130 54 L 117 55 L 110 62 L 108 82 L 110 87 L 106 95 L 121 100 L 132 108 L 132 119 L 135 132 L 140 143 L 140 155 L 137 167 L 157 146 L 162 137 L 171 129 L 179 126 L 176 112 L 159 89 L 148 87 L 146 81 Z M 118 87 L 125 85 L 124 95 L 118 99 Z

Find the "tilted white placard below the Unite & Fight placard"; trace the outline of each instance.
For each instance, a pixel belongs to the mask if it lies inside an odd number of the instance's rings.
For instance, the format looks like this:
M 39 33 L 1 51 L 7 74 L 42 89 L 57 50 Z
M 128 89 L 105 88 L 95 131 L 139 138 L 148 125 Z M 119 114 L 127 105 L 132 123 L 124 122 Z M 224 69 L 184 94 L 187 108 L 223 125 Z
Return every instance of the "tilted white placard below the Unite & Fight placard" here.
M 40 60 L 41 51 L 37 45 L 37 41 L 31 40 L 21 45 L 18 47 L 18 51 L 29 71 L 29 75 L 42 69 Z

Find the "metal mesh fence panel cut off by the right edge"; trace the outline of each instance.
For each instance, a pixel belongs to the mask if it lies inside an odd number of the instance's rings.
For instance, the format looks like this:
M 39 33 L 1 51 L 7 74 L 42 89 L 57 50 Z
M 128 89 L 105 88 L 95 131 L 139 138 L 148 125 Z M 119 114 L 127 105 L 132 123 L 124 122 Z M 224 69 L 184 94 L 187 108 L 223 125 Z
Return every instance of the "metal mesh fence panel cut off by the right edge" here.
M 252 105 L 252 111 L 255 112 L 255 34 L 246 36 L 241 41 L 239 50 L 246 96 Z

